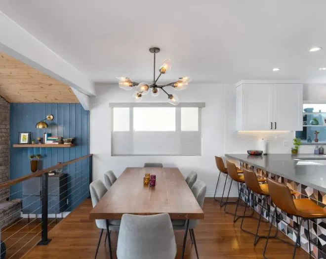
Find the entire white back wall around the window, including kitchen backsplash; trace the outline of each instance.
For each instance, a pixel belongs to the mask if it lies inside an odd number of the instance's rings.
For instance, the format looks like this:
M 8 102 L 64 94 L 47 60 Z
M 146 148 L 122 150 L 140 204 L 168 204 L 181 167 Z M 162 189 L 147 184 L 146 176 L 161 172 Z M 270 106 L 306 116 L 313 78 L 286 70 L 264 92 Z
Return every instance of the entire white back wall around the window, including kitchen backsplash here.
M 326 95 L 316 95 L 314 89 L 322 93 L 326 85 L 305 85 L 304 99 L 326 100 Z M 127 166 L 142 167 L 145 162 L 163 162 L 164 166 L 177 166 L 186 175 L 195 170 L 198 178 L 207 184 L 207 196 L 212 196 L 218 177 L 214 156 L 226 153 L 246 153 L 248 149 L 258 149 L 261 137 L 269 140 L 269 153 L 290 153 L 294 132 L 237 132 L 236 131 L 236 89 L 235 85 L 191 84 L 184 91 L 177 92 L 182 102 L 205 102 L 202 109 L 203 153 L 198 157 L 180 156 L 135 156 L 111 157 L 111 111 L 110 102 L 131 101 L 133 91 L 127 92 L 117 84 L 97 84 L 96 97 L 90 99 L 90 152 L 93 156 L 93 179 L 102 179 L 103 173 L 113 170 L 119 176 Z M 168 89 L 173 93 L 173 89 Z M 143 101 L 166 101 L 163 93 L 159 97 L 144 96 Z M 284 141 L 287 146 L 284 146 Z M 314 146 L 301 146 L 299 152 L 311 153 Z M 224 183 L 224 175 L 221 176 Z M 223 183 L 217 195 L 221 196 Z M 237 196 L 235 186 L 231 191 Z

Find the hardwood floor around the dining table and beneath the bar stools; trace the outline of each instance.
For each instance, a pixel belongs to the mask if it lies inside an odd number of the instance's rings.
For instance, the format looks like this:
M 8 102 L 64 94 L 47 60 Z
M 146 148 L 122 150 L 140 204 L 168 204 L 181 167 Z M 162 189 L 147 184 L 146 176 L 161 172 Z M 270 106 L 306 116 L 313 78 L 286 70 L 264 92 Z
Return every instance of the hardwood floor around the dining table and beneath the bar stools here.
M 49 238 L 52 238 L 48 246 L 36 246 L 24 259 L 62 259 L 62 258 L 94 258 L 98 241 L 99 229 L 95 222 L 88 219 L 91 210 L 91 200 L 86 199 L 68 215 L 60 224 L 54 227 Z M 240 213 L 244 207 L 240 207 Z M 234 211 L 235 205 L 228 205 L 228 210 Z M 206 198 L 204 202 L 205 219 L 195 229 L 197 246 L 201 259 L 234 259 L 250 258 L 262 259 L 262 253 L 266 239 L 261 239 L 256 247 L 253 246 L 253 236 L 240 229 L 241 220 L 233 224 L 233 216 L 220 209 L 219 203 L 212 198 Z M 246 218 L 244 228 L 255 231 L 257 221 Z M 273 227 L 273 233 L 276 228 Z M 262 223 L 260 234 L 267 234 L 268 224 Z M 176 231 L 176 241 L 180 258 L 183 242 L 183 231 Z M 112 233 L 112 247 L 114 258 L 117 247 L 117 233 Z M 283 233 L 279 234 L 289 240 Z M 104 238 L 99 248 L 98 259 L 109 258 L 107 246 L 103 245 Z M 291 258 L 293 247 L 279 240 L 270 239 L 266 256 L 272 258 Z M 308 254 L 298 248 L 296 259 L 309 258 Z M 190 242 L 188 235 L 185 259 L 196 259 L 195 247 Z

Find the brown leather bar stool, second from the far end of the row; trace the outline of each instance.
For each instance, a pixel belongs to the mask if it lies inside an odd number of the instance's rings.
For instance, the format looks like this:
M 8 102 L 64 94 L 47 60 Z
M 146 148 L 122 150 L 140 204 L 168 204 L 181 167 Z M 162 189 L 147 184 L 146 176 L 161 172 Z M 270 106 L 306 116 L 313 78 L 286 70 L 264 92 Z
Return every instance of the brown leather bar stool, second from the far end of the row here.
M 242 174 L 238 174 L 238 171 L 237 171 L 237 166 L 234 164 L 234 163 L 231 163 L 229 161 L 226 162 L 226 168 L 228 169 L 228 174 L 229 176 L 231 177 L 231 184 L 230 184 L 230 188 L 229 188 L 229 192 L 228 192 L 228 197 L 226 199 L 226 204 L 225 204 L 225 207 L 224 207 L 224 211 L 228 214 L 231 214 L 234 216 L 233 218 L 233 222 L 236 222 L 238 219 L 242 218 L 242 217 L 252 217 L 253 215 L 253 212 L 254 210 L 252 210 L 252 213 L 251 215 L 248 215 L 248 216 L 245 216 L 245 215 L 237 215 L 237 210 L 238 210 L 238 206 L 239 206 L 239 201 L 240 201 L 240 196 L 241 196 L 241 193 L 243 193 L 243 186 L 244 186 L 244 175 Z M 231 190 L 231 186 L 232 186 L 232 182 L 235 181 L 238 183 L 238 189 L 239 189 L 239 184 L 240 184 L 240 190 L 239 190 L 239 197 L 238 197 L 238 201 L 237 201 L 237 207 L 236 207 L 236 212 L 235 213 L 231 213 L 231 212 L 227 212 L 226 211 L 226 205 L 227 205 L 227 202 L 228 202 L 228 198 L 229 198 L 229 195 L 230 195 L 230 190 Z M 266 182 L 265 179 L 257 179 L 258 182 L 262 183 L 262 182 Z M 253 194 L 251 194 L 252 197 L 253 197 Z M 249 199 L 249 196 L 248 196 L 248 199 Z M 236 218 L 238 217 L 238 218 Z

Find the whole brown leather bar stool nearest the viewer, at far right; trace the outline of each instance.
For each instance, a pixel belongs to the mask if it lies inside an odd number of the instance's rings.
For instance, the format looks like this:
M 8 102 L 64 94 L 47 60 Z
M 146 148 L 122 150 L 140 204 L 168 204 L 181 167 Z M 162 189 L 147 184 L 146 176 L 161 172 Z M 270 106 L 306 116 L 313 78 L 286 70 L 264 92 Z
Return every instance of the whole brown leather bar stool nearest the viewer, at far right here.
M 290 215 L 301 218 L 298 227 L 298 235 L 293 250 L 292 259 L 294 259 L 295 251 L 298 246 L 298 241 L 300 238 L 300 229 L 302 225 L 302 220 L 304 219 L 308 220 L 308 229 L 310 229 L 309 219 L 325 219 L 326 209 L 318 206 L 315 202 L 313 202 L 308 198 L 293 199 L 288 187 L 282 183 L 276 182 L 271 179 L 267 179 L 267 184 L 268 184 L 269 194 L 276 207 L 269 227 L 269 232 L 268 232 L 263 256 L 265 258 L 265 252 L 267 249 L 267 243 L 271 233 L 273 220 L 275 218 L 277 208 L 280 208 L 281 210 L 283 210 L 284 212 Z M 310 231 L 308 231 L 308 245 L 309 245 L 309 258 L 311 258 Z

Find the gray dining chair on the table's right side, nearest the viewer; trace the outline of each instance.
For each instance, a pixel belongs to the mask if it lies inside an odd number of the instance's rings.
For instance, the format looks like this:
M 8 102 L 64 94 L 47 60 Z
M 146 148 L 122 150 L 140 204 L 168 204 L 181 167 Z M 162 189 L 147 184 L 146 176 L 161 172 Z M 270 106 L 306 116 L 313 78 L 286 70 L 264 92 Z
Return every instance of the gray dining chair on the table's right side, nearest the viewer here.
M 197 199 L 198 204 L 203 208 L 204 205 L 204 199 L 206 195 L 206 184 L 200 180 L 197 180 L 196 183 L 191 188 L 191 191 L 193 192 L 195 198 Z M 195 245 L 196 255 L 197 259 L 199 259 L 198 250 L 197 250 L 197 244 L 195 239 L 195 231 L 194 228 L 197 227 L 199 224 L 199 220 L 189 220 L 189 233 L 191 242 Z M 172 225 L 175 230 L 180 229 L 186 229 L 186 221 L 185 220 L 172 220 Z M 186 238 L 187 233 L 185 233 Z M 184 240 L 184 242 L 186 239 Z

